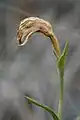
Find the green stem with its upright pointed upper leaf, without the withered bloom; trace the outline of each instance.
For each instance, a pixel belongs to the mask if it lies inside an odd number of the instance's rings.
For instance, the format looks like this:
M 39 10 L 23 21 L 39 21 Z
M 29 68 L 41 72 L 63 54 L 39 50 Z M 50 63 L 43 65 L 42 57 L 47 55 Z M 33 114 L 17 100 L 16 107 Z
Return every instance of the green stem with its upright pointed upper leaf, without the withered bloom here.
M 58 117 L 62 120 L 62 109 L 63 109 L 63 89 L 64 89 L 64 67 L 65 67 L 65 59 L 68 52 L 68 42 L 66 42 L 64 50 L 61 56 L 58 58 L 57 68 L 59 70 L 60 77 L 60 99 L 59 99 L 59 107 L 58 107 Z

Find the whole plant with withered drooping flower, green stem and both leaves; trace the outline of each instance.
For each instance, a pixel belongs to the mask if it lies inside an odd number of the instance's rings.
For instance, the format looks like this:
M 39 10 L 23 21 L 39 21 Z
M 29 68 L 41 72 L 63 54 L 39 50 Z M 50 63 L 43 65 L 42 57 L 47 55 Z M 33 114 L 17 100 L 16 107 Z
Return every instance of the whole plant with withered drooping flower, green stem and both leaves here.
M 55 113 L 54 110 L 52 110 L 48 106 L 40 104 L 28 96 L 25 96 L 25 98 L 29 100 L 31 103 L 47 110 L 52 115 L 54 120 L 62 120 L 64 67 L 65 67 L 65 58 L 68 52 L 68 42 L 66 42 L 65 48 L 61 53 L 59 41 L 54 35 L 51 24 L 37 17 L 29 17 L 22 20 L 19 25 L 17 31 L 18 46 L 24 46 L 28 42 L 29 37 L 35 32 L 41 32 L 50 38 L 52 43 L 52 50 L 56 57 L 58 75 L 60 76 L 60 99 L 58 105 L 58 113 Z

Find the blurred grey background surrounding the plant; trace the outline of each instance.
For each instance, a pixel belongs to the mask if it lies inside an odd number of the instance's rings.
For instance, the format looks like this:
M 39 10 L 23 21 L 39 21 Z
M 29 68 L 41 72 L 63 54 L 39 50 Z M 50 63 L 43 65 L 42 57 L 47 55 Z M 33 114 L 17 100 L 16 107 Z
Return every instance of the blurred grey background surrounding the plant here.
M 57 111 L 59 77 L 49 38 L 37 33 L 17 47 L 16 31 L 29 16 L 48 20 L 61 49 L 69 41 L 63 120 L 80 115 L 80 0 L 0 0 L 0 120 L 52 120 L 24 95 Z

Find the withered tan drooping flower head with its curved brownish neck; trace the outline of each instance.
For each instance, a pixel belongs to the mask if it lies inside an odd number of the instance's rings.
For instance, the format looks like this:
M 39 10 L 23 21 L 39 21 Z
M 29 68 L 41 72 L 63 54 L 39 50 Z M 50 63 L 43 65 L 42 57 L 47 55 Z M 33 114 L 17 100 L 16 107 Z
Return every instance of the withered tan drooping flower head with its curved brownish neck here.
M 17 31 L 17 41 L 19 46 L 25 45 L 28 42 L 29 37 L 35 32 L 41 32 L 50 38 L 53 51 L 56 57 L 59 57 L 59 42 L 53 33 L 51 24 L 38 17 L 29 17 L 21 21 Z

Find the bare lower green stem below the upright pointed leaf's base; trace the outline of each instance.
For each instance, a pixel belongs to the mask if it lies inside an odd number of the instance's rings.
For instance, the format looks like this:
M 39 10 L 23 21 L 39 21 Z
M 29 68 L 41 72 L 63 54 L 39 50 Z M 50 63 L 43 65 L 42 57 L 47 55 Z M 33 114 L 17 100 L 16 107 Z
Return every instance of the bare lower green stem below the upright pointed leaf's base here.
M 63 89 L 64 89 L 64 75 L 60 73 L 60 99 L 59 99 L 59 106 L 58 106 L 58 117 L 59 117 L 59 120 L 62 120 Z

